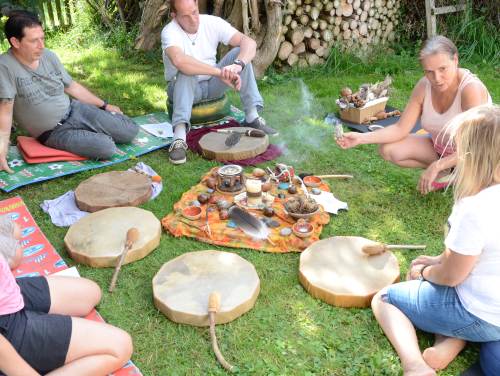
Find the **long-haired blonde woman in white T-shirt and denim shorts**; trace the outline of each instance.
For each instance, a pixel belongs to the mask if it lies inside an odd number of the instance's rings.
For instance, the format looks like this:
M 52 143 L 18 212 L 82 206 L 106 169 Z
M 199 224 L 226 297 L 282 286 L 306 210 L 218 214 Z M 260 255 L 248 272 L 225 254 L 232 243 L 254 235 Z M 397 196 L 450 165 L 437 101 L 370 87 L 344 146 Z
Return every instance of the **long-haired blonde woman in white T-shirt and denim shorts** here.
M 413 260 L 410 281 L 383 289 L 372 301 L 405 375 L 434 375 L 466 341 L 500 341 L 500 107 L 468 110 L 449 131 L 458 163 L 446 249 Z M 436 334 L 423 353 L 415 327 Z M 500 374 L 497 361 L 483 363 L 487 374 Z

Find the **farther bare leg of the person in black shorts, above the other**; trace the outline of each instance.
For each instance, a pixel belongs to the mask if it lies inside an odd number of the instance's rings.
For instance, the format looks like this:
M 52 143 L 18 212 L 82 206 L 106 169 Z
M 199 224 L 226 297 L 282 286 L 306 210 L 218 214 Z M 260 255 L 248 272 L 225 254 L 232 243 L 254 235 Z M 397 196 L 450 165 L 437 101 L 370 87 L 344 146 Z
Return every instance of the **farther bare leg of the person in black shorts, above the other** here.
M 86 278 L 48 276 L 50 311 L 68 316 L 86 316 L 101 300 L 99 286 Z

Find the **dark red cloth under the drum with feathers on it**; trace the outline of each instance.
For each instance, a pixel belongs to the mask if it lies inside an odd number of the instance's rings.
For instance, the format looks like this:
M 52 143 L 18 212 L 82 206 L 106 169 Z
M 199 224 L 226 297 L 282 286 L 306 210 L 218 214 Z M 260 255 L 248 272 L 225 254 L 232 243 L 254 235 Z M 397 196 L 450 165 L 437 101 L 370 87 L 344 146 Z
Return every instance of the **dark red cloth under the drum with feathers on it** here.
M 202 155 L 199 144 L 200 139 L 208 132 L 213 132 L 216 129 L 230 128 L 230 127 L 241 127 L 241 124 L 238 123 L 236 120 L 231 119 L 226 124 L 215 125 L 213 127 L 202 127 L 199 129 L 191 129 L 187 134 L 186 143 L 188 144 L 189 149 Z M 283 154 L 283 150 L 281 150 L 281 148 L 278 145 L 269 144 L 264 153 L 259 154 L 253 158 L 240 159 L 237 161 L 222 161 L 222 163 L 237 164 L 240 166 L 255 166 L 258 165 L 259 163 L 272 161 L 273 159 L 278 158 L 281 154 Z

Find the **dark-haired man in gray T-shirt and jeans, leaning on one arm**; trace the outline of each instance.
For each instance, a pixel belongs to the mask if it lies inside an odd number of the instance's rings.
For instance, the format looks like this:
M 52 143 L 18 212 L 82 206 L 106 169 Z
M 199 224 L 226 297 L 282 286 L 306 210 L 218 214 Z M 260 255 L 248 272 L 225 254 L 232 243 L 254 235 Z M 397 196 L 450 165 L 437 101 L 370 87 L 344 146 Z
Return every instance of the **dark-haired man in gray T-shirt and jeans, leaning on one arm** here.
M 13 121 L 47 146 L 93 159 L 107 159 L 115 142 L 133 140 L 137 125 L 73 81 L 45 49 L 35 15 L 13 12 L 5 35 L 11 48 L 0 55 L 0 171 L 11 172 L 6 157 Z

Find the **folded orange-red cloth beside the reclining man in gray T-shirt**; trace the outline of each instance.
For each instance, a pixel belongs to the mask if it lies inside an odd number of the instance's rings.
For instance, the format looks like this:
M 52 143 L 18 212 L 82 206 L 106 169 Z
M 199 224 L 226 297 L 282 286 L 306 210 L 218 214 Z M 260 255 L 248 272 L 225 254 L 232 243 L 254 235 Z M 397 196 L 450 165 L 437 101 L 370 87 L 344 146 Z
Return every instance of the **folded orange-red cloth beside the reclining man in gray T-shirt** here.
M 17 148 L 27 163 L 47 163 L 57 161 L 84 161 L 87 158 L 69 151 L 49 148 L 42 145 L 36 138 L 18 136 Z

